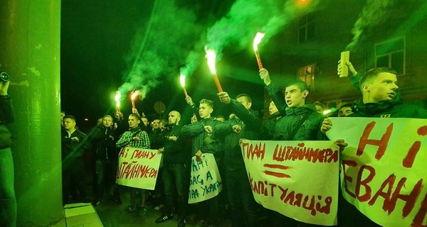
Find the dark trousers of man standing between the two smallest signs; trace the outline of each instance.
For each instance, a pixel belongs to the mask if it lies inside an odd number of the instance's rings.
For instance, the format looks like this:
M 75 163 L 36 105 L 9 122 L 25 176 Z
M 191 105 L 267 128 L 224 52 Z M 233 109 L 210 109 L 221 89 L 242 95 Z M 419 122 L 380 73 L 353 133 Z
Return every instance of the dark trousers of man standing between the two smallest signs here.
M 184 164 L 164 164 L 162 170 L 162 180 L 164 184 L 164 213 L 172 214 L 174 209 L 174 192 L 176 192 L 177 201 L 179 204 L 179 217 L 185 217 L 187 199 L 185 185 L 189 182 L 189 177 L 186 177 L 186 166 Z

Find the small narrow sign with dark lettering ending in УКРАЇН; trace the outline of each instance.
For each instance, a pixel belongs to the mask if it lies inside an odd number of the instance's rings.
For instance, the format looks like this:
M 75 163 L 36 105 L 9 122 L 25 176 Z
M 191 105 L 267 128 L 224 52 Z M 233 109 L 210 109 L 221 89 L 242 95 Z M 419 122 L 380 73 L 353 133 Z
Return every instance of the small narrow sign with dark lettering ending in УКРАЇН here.
M 204 153 L 200 162 L 196 156 L 191 158 L 189 204 L 214 198 L 221 192 L 222 184 L 214 155 Z

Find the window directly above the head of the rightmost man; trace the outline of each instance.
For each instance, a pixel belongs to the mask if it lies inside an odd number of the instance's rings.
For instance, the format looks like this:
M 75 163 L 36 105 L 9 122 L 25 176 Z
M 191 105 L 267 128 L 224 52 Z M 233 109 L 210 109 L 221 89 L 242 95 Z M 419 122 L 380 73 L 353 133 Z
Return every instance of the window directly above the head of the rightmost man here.
M 405 74 L 405 39 L 376 44 L 375 60 L 376 67 L 389 67 L 398 74 Z

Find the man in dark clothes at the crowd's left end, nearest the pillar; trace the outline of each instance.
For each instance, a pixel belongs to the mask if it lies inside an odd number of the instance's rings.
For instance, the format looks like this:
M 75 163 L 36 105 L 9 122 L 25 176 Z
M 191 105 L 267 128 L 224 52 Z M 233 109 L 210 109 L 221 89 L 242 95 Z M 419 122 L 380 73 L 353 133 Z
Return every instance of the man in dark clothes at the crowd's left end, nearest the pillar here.
M 76 129 L 75 117 L 63 117 L 62 157 L 63 157 L 63 204 L 73 200 L 86 202 L 85 165 L 83 154 L 88 149 L 87 135 Z

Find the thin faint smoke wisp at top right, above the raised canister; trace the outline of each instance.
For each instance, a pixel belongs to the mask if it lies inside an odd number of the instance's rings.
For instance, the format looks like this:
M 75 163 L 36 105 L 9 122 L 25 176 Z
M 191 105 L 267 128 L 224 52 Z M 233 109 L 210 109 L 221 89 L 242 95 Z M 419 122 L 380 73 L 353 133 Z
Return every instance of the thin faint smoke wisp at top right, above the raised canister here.
M 394 5 L 394 0 L 367 0 L 359 18 L 352 29 L 354 35 L 352 43 L 347 45 L 346 50 L 357 47 L 365 28 L 376 26 L 387 18 L 388 9 Z

